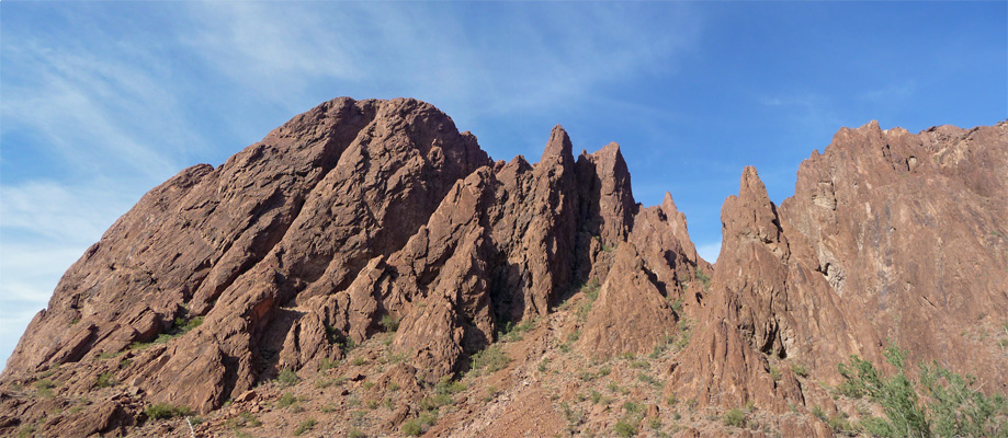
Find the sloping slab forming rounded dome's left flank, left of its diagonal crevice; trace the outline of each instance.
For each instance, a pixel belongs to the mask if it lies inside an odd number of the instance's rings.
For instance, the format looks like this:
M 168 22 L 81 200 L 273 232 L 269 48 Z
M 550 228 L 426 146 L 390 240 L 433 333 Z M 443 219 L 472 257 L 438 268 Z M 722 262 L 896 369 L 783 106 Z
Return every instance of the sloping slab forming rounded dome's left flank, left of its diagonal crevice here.
M 286 232 L 307 193 L 374 113 L 373 104 L 325 103 L 218 169 L 196 165 L 154 188 L 68 269 L 7 372 L 149 341 L 185 314 L 181 304 L 219 293 Z M 86 333 L 123 320 L 144 324 L 105 337 Z M 77 346 L 80 353 L 59 353 Z

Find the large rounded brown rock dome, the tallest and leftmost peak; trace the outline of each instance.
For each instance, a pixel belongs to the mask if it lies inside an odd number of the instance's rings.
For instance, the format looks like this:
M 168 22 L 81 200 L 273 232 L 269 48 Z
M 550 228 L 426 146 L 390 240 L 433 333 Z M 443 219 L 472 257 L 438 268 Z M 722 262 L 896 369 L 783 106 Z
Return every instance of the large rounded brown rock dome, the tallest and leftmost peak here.
M 296 320 L 282 306 L 319 281 L 313 290 L 348 287 L 369 260 L 401 247 L 456 180 L 488 163 L 474 137 L 428 104 L 319 105 L 220 168 L 191 168 L 146 195 L 71 267 L 8 370 L 120 350 L 205 313 L 202 330 L 151 358 L 167 362 L 145 382 L 163 393 L 183 374 L 223 376 L 211 382 L 219 389 L 177 400 L 214 406 L 270 372 Z M 219 356 L 203 357 L 208 345 Z

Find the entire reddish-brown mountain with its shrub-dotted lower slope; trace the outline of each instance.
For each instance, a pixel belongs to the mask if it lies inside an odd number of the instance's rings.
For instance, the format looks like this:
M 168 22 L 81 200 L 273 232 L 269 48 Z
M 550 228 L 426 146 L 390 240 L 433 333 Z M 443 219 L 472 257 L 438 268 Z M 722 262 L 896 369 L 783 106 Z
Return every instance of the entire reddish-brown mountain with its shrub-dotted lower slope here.
M 429 104 L 337 99 L 120 218 L 8 361 L 0 434 L 877 435 L 840 370 L 919 378 L 937 428 L 918 362 L 1008 434 L 1006 218 L 1008 123 L 872 123 L 781 206 L 745 169 L 711 265 L 616 143 L 492 161 Z

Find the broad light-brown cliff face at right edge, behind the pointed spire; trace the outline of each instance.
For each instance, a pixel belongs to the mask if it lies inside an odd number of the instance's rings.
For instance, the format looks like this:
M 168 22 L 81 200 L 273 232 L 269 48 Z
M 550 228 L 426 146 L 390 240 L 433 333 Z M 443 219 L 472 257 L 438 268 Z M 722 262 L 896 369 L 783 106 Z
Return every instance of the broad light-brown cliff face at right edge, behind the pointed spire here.
M 781 216 L 840 306 L 864 315 L 861 333 L 1008 391 L 983 335 L 1008 322 L 1008 123 L 840 129 L 802 163 Z

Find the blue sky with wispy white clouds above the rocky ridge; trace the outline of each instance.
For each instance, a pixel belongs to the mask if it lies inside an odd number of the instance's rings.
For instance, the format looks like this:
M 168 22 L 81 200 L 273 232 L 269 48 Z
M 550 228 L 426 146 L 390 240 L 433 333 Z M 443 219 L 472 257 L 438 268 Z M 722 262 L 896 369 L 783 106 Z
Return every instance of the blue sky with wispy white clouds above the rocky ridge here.
M 618 141 L 701 254 L 841 126 L 1008 117 L 1006 2 L 0 3 L 0 364 L 148 189 L 316 104 L 412 96 L 495 159 Z

